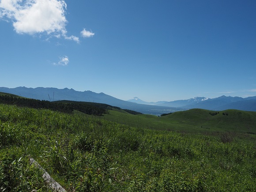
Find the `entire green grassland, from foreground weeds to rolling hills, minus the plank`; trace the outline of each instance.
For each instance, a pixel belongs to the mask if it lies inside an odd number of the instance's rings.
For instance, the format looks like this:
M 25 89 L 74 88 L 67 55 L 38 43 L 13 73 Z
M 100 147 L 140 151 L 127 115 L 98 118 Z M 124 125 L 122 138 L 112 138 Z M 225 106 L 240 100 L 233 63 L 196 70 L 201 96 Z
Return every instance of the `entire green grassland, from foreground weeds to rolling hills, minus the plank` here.
M 0 104 L 0 191 L 253 192 L 256 113 L 103 116 Z

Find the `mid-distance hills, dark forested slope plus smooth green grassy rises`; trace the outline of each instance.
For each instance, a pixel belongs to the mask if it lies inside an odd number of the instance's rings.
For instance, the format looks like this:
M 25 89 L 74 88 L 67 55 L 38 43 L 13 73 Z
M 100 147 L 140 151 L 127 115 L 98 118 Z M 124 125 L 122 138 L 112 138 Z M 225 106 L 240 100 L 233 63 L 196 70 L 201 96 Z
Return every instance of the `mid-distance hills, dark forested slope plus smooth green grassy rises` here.
M 234 109 L 225 111 L 190 109 L 187 111 L 175 112 L 163 117 L 157 117 L 146 114 L 134 115 L 136 113 L 133 111 L 101 103 L 74 102 L 66 100 L 48 102 L 21 98 L 13 94 L 0 93 L 0 96 L 1 95 L 7 95 L 8 99 L 17 98 L 14 100 L 11 99 L 10 102 L 17 105 L 21 102 L 21 105 L 23 106 L 53 109 L 68 113 L 71 113 L 72 110 L 75 109 L 75 111 L 80 111 L 82 113 L 98 115 L 96 118 L 99 119 L 111 120 L 117 123 L 141 128 L 178 132 L 230 131 L 256 134 L 256 112 Z M 7 99 L 5 98 L 5 100 Z M 31 105 L 32 103 L 33 105 Z

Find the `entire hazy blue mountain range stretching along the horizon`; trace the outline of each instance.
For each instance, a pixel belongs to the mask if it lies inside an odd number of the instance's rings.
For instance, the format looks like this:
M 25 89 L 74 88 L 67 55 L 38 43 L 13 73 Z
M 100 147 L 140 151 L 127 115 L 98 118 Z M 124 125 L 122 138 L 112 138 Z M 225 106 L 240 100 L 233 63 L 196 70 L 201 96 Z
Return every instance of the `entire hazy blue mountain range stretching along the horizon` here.
M 59 101 L 82 101 L 105 103 L 112 106 L 117 106 L 122 109 L 130 109 L 144 114 L 161 115 L 163 113 L 173 113 L 176 111 L 184 111 L 187 109 L 208 109 L 208 110 L 226 110 L 239 109 L 244 111 L 256 111 L 256 96 L 241 98 L 241 97 L 226 97 L 205 98 L 195 97 L 187 100 L 177 100 L 172 102 L 144 102 L 135 97 L 128 101 L 114 98 L 104 93 L 95 93 L 90 90 L 76 91 L 74 89 L 57 89 L 52 87 L 16 87 L 7 88 L 0 87 L 0 92 L 16 94 L 26 98 L 34 98 L 39 100 Z

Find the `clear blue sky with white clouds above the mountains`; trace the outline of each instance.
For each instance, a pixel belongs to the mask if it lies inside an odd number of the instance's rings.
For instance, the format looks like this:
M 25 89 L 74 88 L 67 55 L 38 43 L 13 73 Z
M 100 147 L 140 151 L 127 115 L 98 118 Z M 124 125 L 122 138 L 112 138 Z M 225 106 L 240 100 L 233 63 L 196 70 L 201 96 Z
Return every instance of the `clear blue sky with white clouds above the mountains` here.
M 0 0 L 0 87 L 256 95 L 254 0 Z

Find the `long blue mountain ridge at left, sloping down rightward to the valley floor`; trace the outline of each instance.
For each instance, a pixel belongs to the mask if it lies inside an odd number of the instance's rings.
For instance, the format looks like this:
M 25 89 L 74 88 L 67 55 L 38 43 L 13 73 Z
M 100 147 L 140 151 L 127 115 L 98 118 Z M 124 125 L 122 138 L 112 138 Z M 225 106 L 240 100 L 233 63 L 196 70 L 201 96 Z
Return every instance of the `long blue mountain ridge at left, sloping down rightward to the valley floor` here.
M 96 102 L 104 103 L 112 106 L 120 107 L 121 109 L 130 109 L 145 114 L 161 115 L 163 113 L 170 113 L 175 111 L 181 111 L 186 109 L 157 106 L 157 105 L 142 105 L 134 102 L 127 102 L 121 99 L 114 98 L 104 93 L 95 93 L 90 90 L 76 91 L 74 89 L 57 89 L 52 87 L 16 87 L 7 88 L 0 87 L 0 92 L 16 94 L 26 98 L 34 98 L 46 101 L 59 101 L 59 100 L 70 100 L 70 101 L 81 101 L 81 102 Z

